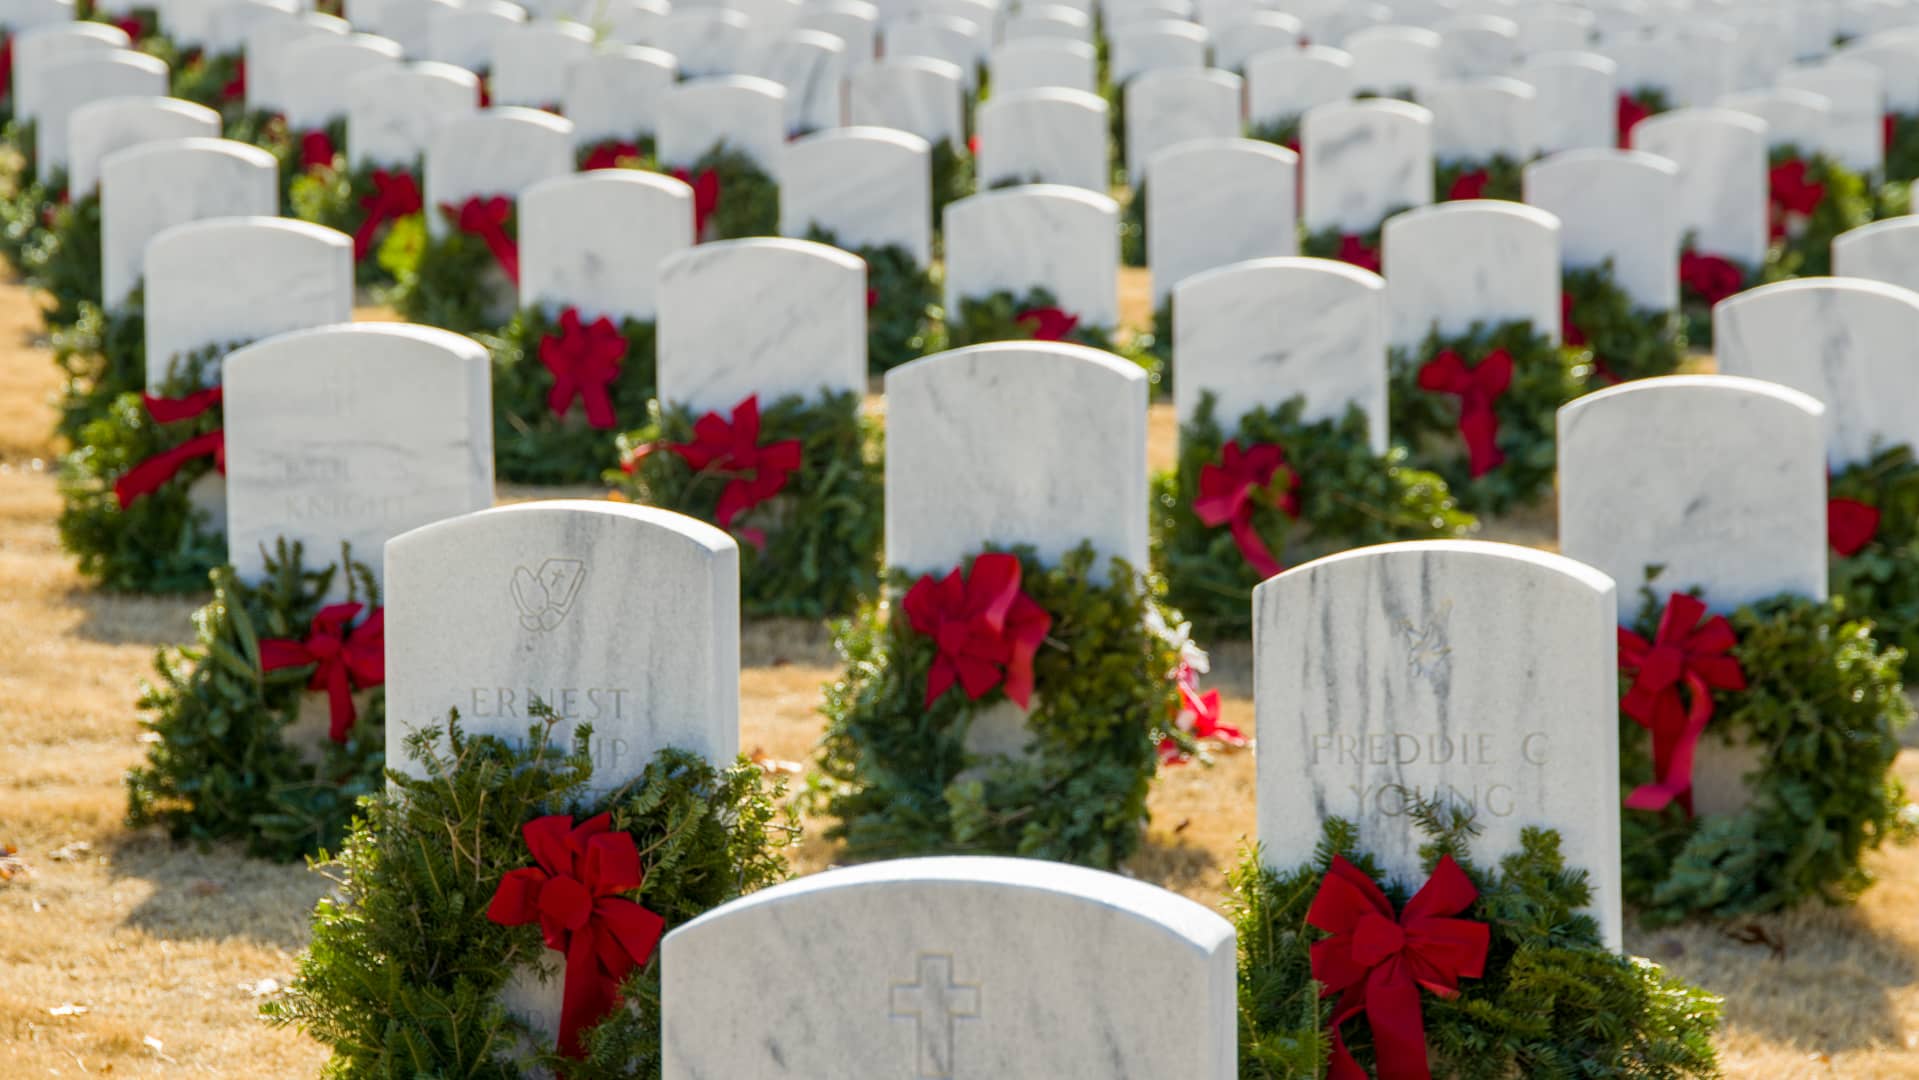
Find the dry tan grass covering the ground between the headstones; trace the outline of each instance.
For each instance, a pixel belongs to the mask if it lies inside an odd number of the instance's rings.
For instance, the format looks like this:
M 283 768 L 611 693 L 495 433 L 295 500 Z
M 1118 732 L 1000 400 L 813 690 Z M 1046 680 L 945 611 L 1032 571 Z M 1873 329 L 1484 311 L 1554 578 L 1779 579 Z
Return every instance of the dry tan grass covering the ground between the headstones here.
M 313 1076 L 322 1047 L 259 1022 L 255 1007 L 263 980 L 292 973 L 322 882 L 121 825 L 121 773 L 140 758 L 134 689 L 154 646 L 186 637 L 194 600 L 100 597 L 59 552 L 52 476 L 31 464 L 50 455 L 54 389 L 46 353 L 23 347 L 31 328 L 21 290 L 0 288 L 0 848 L 17 846 L 31 867 L 0 880 L 0 1076 Z M 1153 460 L 1171 462 L 1163 407 L 1151 437 Z M 551 493 L 503 493 L 537 495 Z M 1487 531 L 1551 543 L 1551 526 L 1531 516 Z M 741 744 L 804 763 L 819 685 L 835 675 L 827 631 L 756 623 L 743 645 Z M 1228 721 L 1251 731 L 1245 645 L 1215 650 L 1215 683 Z M 1915 754 L 1900 771 L 1919 785 Z M 1128 873 L 1217 904 L 1253 825 L 1251 754 L 1173 769 L 1151 806 Z M 814 829 L 794 867 L 833 856 Z M 1856 907 L 1735 928 L 1760 944 L 1712 927 L 1629 944 L 1727 996 L 1731 1076 L 1919 1078 L 1919 850 L 1873 865 L 1883 882 Z

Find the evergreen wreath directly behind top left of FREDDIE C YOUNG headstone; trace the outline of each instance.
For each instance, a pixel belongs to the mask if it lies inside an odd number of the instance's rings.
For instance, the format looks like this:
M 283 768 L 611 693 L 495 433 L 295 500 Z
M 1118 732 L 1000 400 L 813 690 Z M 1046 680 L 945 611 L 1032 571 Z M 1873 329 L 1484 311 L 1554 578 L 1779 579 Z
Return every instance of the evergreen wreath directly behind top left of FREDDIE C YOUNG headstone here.
M 1245 637 L 1253 625 L 1253 585 L 1265 577 L 1242 554 L 1232 529 L 1207 526 L 1194 512 L 1199 476 L 1217 466 L 1228 441 L 1215 418 L 1211 391 L 1180 426 L 1178 468 L 1153 478 L 1153 566 L 1167 579 L 1167 600 L 1201 633 Z M 1303 420 L 1305 397 L 1247 412 L 1232 432 L 1242 449 L 1276 445 L 1286 455 L 1268 491 L 1297 483 L 1297 518 L 1276 499 L 1255 497 L 1251 528 L 1282 566 L 1322 554 L 1407 539 L 1468 535 L 1478 520 L 1460 510 L 1445 480 L 1407 464 L 1405 447 L 1372 453 L 1366 412 L 1357 405 L 1339 420 Z

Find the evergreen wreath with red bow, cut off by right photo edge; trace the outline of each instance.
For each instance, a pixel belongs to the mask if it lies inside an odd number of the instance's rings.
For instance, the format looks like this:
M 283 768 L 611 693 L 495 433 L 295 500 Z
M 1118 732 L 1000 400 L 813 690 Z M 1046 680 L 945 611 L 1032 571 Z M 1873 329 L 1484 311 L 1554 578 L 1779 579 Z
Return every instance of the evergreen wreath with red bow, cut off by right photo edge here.
M 1829 583 L 1846 610 L 1873 620 L 1873 637 L 1919 650 L 1919 460 L 1909 445 L 1879 449 L 1836 472 L 1833 499 L 1852 499 L 1879 512 L 1865 547 L 1829 552 Z

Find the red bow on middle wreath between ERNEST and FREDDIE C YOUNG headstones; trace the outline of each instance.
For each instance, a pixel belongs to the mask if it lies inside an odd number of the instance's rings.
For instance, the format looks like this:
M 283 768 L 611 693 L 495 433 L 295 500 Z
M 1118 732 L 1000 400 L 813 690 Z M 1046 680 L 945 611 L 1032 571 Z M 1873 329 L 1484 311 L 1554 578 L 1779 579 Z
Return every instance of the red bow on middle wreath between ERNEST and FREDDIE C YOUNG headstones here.
M 906 591 L 913 631 L 938 645 L 927 671 L 927 706 L 954 683 L 969 700 L 1002 683 L 1019 708 L 1032 700 L 1032 656 L 1054 616 L 1019 591 L 1019 577 L 1017 556 L 988 552 L 973 560 L 971 574 L 958 568 L 942 579 L 927 574 Z

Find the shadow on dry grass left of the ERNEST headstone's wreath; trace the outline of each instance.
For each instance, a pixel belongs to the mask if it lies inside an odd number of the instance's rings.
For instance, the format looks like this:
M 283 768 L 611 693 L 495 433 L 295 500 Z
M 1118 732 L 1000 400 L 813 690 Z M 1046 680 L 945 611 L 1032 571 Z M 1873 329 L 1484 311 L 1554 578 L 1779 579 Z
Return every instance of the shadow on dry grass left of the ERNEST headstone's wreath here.
M 173 942 L 244 938 L 301 950 L 313 905 L 332 888 L 303 863 L 249 859 L 232 844 L 173 844 L 154 829 L 111 842 L 107 863 L 115 880 L 154 888 L 123 925 Z

